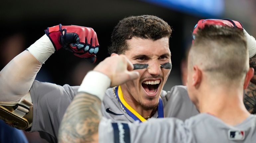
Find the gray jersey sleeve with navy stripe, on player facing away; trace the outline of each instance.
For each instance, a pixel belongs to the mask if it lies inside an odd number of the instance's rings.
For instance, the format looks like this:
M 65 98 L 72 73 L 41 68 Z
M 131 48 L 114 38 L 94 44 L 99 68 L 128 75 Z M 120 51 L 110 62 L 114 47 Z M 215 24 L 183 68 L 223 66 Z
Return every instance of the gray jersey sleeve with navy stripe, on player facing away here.
M 175 118 L 129 123 L 103 117 L 99 125 L 99 143 L 185 143 L 190 140 L 190 129 Z

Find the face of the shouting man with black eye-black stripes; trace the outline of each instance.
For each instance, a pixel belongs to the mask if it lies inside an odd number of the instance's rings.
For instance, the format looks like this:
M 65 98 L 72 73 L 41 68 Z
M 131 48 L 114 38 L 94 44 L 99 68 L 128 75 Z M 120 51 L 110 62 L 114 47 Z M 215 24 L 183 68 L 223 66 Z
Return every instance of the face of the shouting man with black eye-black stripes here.
M 126 102 L 150 110 L 158 105 L 159 96 L 171 69 L 161 68 L 161 64 L 171 63 L 169 38 L 158 40 L 132 38 L 126 41 L 129 49 L 124 55 L 133 64 L 148 64 L 147 68 L 137 69 L 140 77 L 122 85 Z

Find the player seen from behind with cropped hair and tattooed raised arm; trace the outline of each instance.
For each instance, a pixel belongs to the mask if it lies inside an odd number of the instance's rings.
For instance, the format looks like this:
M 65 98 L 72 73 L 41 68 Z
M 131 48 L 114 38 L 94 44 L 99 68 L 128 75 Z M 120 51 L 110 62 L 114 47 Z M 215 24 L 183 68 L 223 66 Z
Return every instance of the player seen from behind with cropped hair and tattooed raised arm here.
M 79 93 L 64 115 L 60 142 L 255 142 L 256 115 L 250 114 L 243 104 L 243 90 L 254 75 L 254 69 L 249 68 L 243 29 L 222 20 L 210 20 L 205 24 L 202 21 L 194 30 L 187 81 L 189 97 L 200 114 L 185 122 L 177 118 L 152 118 L 140 124 L 105 117 L 99 122 L 101 114 L 97 111 L 102 93 L 91 89 L 97 87 L 103 91 L 108 86 L 122 85 L 140 77 L 129 58 L 115 54 L 85 76 Z M 231 24 L 238 23 L 233 22 Z M 100 79 L 88 84 L 92 76 Z M 99 87 L 97 81 L 102 86 Z

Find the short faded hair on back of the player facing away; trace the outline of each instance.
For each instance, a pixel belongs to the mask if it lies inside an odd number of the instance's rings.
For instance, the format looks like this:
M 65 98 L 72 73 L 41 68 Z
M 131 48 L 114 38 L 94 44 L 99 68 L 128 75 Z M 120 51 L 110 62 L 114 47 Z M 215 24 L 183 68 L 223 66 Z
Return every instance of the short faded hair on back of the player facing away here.
M 189 54 L 189 70 L 197 65 L 211 84 L 243 84 L 249 69 L 245 35 L 241 29 L 206 25 L 198 29 Z

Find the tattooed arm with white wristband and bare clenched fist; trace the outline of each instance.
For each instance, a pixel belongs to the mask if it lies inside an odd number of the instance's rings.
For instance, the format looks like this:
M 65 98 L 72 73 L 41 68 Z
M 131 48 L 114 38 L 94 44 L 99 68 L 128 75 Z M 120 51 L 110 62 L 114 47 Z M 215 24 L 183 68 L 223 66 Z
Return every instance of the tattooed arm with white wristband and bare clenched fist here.
M 105 90 L 138 77 L 139 73 L 133 71 L 132 63 L 123 55 L 112 54 L 100 62 L 86 74 L 78 94 L 68 106 L 60 126 L 59 142 L 97 143 Z

